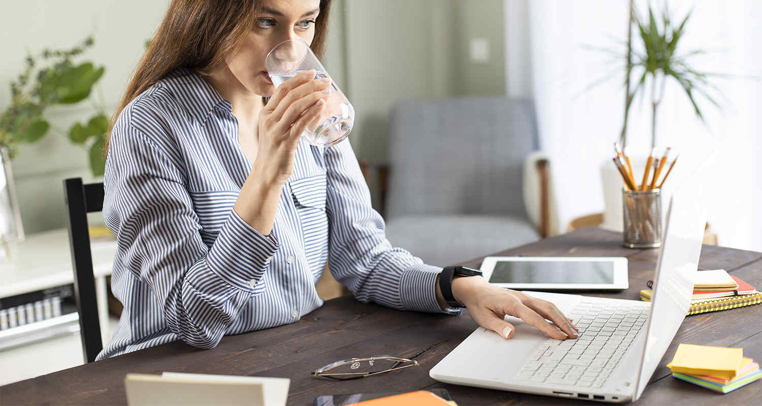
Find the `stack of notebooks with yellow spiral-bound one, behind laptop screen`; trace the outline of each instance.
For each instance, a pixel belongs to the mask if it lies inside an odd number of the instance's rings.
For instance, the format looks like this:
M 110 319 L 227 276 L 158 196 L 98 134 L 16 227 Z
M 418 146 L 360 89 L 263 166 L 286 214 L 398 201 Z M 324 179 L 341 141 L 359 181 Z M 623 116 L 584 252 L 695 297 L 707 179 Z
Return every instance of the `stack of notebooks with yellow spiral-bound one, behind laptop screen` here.
M 700 270 L 696 274 L 688 315 L 756 305 L 762 302 L 762 293 L 754 289 L 754 286 L 729 275 L 725 270 Z M 648 281 L 648 287 L 652 287 L 652 281 Z M 646 302 L 651 300 L 651 295 L 652 289 L 640 291 L 640 299 Z

